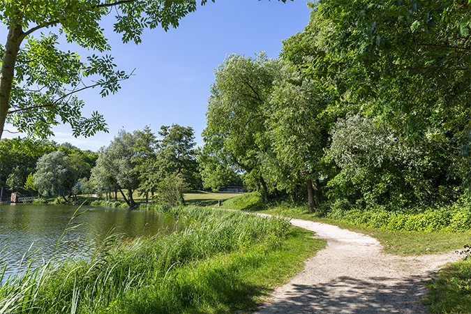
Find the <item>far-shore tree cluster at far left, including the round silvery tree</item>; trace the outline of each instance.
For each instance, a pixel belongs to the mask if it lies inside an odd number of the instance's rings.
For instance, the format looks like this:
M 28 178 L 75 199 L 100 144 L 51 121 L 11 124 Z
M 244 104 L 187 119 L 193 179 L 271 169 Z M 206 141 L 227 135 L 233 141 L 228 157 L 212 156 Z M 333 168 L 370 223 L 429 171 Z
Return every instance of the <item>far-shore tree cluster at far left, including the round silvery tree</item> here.
M 4 197 L 52 195 L 68 197 L 76 193 L 80 179 L 89 177 L 98 154 L 66 142 L 49 140 L 0 140 L 0 186 Z M 35 175 L 38 173 L 38 175 Z M 75 189 L 74 189 L 75 187 Z

